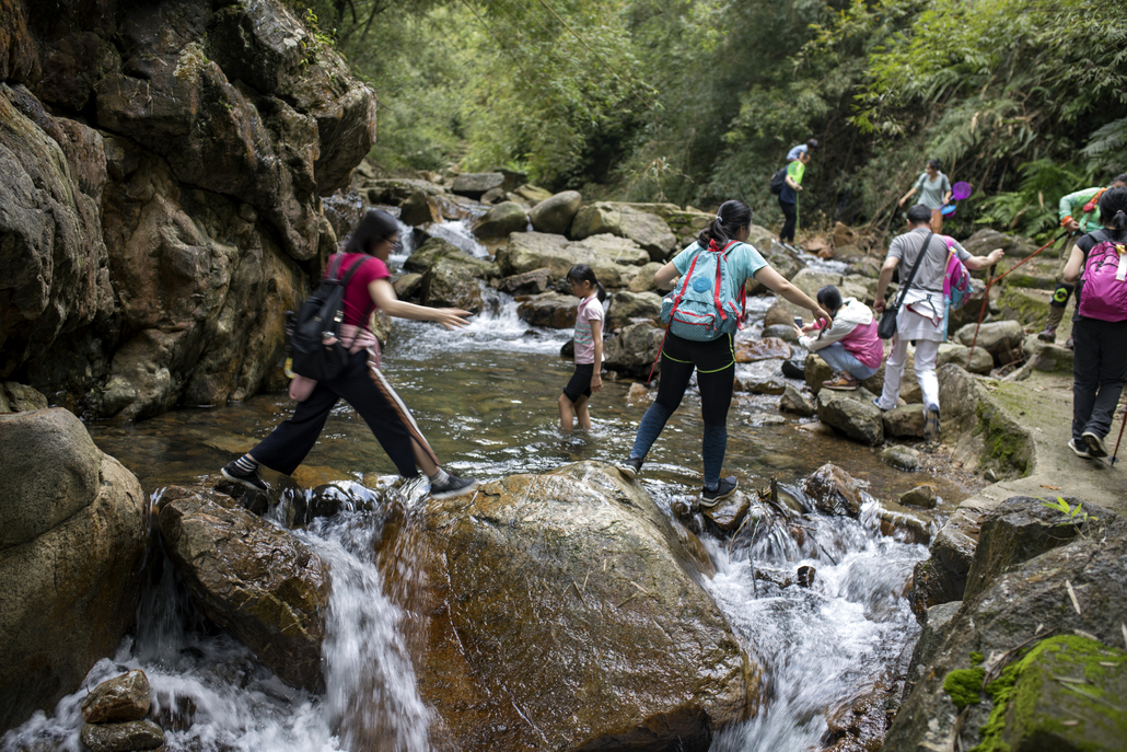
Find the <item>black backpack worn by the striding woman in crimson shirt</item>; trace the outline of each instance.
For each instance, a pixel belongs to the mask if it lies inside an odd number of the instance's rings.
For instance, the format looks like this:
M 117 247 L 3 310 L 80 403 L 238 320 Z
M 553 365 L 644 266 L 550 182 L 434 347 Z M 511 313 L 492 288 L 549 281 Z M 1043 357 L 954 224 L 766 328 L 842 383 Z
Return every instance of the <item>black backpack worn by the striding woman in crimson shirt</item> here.
M 321 278 L 321 286 L 305 299 L 298 309 L 290 333 L 291 370 L 309 379 L 329 381 L 340 375 L 348 365 L 348 348 L 340 342 L 340 324 L 344 321 L 345 287 L 366 258 L 352 265 L 348 274 L 340 278 L 344 256 L 337 258 L 334 268 Z

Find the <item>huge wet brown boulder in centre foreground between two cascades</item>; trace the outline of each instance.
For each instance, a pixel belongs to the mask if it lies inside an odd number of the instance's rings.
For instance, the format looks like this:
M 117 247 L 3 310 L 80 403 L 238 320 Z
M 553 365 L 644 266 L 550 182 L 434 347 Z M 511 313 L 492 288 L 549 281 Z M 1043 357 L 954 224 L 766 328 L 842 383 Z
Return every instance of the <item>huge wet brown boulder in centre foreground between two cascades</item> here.
M 700 541 L 609 466 L 431 502 L 409 556 L 428 583 L 417 675 L 440 745 L 703 750 L 757 701 Z

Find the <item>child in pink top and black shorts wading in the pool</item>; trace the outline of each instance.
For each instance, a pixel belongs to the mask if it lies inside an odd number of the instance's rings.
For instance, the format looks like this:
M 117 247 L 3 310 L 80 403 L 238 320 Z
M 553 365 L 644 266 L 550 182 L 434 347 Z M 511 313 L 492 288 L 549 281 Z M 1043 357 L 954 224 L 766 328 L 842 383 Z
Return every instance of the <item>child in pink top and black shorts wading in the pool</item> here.
M 571 294 L 580 300 L 575 315 L 575 373 L 560 395 L 560 430 L 570 432 L 573 419 L 580 428 L 591 428 L 587 400 L 603 388 L 603 301 L 606 290 L 586 264 L 576 264 L 567 273 Z

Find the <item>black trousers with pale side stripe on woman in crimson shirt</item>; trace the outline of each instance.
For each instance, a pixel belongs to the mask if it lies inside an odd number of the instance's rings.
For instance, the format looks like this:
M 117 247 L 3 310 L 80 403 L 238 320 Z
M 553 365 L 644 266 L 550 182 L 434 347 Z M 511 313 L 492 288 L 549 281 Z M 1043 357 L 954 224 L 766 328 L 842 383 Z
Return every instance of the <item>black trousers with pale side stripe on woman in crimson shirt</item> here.
M 418 475 L 415 446 L 420 446 L 438 465 L 410 410 L 375 368 L 374 357 L 369 361 L 366 350 L 353 355 L 348 368 L 336 379 L 319 382 L 305 401 L 298 402 L 293 417 L 274 428 L 269 436 L 250 450 L 250 455 L 272 470 L 293 474 L 313 449 L 329 412 L 340 398 L 364 418 L 399 475 L 405 478 Z

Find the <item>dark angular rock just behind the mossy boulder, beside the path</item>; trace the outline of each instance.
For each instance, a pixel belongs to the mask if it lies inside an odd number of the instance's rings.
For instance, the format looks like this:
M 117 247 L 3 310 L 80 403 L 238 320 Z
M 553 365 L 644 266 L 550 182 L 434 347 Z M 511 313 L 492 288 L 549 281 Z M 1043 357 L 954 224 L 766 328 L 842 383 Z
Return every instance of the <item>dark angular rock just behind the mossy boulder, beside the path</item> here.
M 1072 497 L 1065 501 L 1073 507 L 1082 503 Z M 1074 524 L 1063 512 L 1045 506 L 1039 498 L 1014 496 L 1005 499 L 982 523 L 964 600 L 976 599 L 992 578 L 1014 566 L 1066 546 L 1085 527 L 1097 525 Z

